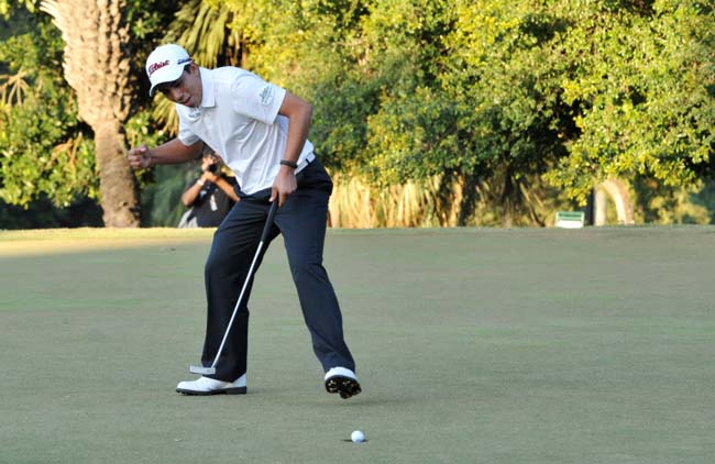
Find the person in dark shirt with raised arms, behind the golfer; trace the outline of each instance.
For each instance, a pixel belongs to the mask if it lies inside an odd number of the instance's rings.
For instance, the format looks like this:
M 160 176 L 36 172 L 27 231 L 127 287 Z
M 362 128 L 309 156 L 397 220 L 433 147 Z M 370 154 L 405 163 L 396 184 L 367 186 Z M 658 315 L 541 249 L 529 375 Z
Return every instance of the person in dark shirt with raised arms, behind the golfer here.
M 182 217 L 179 228 L 216 228 L 239 201 L 235 177 L 226 175 L 222 167 L 219 155 L 212 151 L 204 154 L 201 176 L 182 195 L 182 202 L 190 209 Z

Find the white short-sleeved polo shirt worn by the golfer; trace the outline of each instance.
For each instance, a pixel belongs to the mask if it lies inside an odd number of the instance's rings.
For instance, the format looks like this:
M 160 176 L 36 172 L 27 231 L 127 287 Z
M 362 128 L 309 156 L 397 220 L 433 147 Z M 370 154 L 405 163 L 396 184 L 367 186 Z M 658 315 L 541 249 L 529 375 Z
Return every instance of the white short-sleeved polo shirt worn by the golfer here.
M 241 68 L 199 69 L 199 108 L 176 103 L 179 141 L 206 142 L 233 170 L 243 192 L 271 188 L 288 139 L 289 120 L 278 114 L 285 89 Z M 312 158 L 312 151 L 306 141 L 298 164 Z

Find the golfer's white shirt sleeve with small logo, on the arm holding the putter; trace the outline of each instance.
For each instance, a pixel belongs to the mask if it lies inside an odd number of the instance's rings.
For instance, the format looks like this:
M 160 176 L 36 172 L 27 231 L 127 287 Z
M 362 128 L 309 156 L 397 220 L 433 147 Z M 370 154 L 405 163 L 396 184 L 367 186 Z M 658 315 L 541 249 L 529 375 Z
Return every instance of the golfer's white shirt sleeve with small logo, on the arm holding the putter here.
M 285 96 L 285 89 L 252 73 L 240 75 L 231 86 L 233 110 L 265 124 L 273 124 Z

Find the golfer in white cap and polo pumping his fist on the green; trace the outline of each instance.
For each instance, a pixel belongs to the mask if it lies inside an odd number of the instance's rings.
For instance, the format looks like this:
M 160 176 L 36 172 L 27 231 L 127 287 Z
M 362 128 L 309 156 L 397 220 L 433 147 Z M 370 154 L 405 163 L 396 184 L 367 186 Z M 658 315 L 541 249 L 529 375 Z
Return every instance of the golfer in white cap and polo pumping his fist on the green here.
M 244 69 L 199 67 L 175 44 L 152 52 L 146 59 L 146 75 L 150 96 L 158 90 L 176 103 L 179 132 L 163 145 L 131 148 L 130 165 L 150 168 L 188 162 L 200 156 L 204 141 L 221 153 L 241 186 L 241 201 L 213 234 L 206 263 L 208 314 L 202 365 L 213 362 L 257 251 L 268 209 L 277 201 L 271 233 L 256 266 L 267 244 L 283 234 L 302 316 L 326 373 L 326 389 L 342 398 L 358 395 L 361 387 L 343 338 L 340 307 L 322 266 L 332 181 L 307 139 L 312 107 Z M 250 284 L 216 374 L 182 382 L 176 387 L 178 393 L 246 391 Z

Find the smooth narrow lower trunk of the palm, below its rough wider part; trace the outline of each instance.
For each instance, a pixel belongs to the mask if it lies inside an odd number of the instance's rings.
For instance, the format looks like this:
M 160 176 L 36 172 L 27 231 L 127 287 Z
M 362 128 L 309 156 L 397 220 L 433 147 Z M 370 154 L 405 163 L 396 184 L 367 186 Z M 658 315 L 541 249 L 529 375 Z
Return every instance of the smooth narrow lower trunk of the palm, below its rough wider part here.
M 105 227 L 138 228 L 139 194 L 127 162 L 121 125 L 117 121 L 98 121 L 92 129 Z

